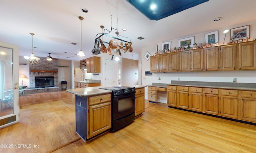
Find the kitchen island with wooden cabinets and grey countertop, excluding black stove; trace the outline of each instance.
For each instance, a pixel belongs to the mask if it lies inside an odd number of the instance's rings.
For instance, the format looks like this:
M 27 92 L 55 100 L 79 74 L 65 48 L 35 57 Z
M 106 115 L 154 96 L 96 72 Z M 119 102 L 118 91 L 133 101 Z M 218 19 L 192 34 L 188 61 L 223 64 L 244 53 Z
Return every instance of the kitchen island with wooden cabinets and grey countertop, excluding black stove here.
M 144 87 L 136 88 L 135 114 L 144 112 Z M 105 86 L 74 88 L 67 92 L 76 95 L 76 133 L 84 140 L 92 139 L 109 131 L 111 125 L 111 90 L 100 89 Z M 138 96 L 139 95 L 139 96 Z M 142 95 L 142 96 L 141 96 Z M 142 102 L 143 99 L 143 102 Z M 143 103 L 143 104 L 142 104 Z

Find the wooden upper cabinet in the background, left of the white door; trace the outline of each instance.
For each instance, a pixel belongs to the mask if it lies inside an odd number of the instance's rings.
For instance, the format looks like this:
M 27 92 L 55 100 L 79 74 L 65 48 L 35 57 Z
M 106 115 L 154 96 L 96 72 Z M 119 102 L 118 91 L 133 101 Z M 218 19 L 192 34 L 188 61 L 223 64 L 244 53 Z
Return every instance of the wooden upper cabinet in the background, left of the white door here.
M 87 73 L 100 73 L 100 57 L 86 59 Z

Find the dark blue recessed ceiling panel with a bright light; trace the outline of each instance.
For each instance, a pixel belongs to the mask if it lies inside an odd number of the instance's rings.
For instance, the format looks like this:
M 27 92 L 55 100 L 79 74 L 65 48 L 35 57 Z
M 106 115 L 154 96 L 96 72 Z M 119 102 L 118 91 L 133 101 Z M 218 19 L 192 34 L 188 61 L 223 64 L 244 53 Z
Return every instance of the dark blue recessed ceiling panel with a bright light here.
M 209 0 L 126 0 L 150 20 L 160 20 Z M 151 9 L 152 4 L 156 5 Z

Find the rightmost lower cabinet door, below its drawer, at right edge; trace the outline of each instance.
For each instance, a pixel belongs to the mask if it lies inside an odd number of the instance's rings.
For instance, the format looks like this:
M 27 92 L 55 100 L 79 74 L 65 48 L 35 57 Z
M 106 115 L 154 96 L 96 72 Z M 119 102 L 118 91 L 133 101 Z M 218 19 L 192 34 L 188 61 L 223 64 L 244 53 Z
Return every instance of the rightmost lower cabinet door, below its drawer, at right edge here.
M 256 98 L 242 97 L 242 120 L 256 123 Z

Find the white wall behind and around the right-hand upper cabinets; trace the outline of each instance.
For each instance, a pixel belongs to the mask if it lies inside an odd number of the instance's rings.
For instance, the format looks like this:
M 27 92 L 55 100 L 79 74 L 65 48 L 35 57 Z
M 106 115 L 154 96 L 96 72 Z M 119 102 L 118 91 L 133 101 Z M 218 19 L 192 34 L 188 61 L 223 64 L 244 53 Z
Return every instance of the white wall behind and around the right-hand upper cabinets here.
M 256 38 L 256 22 L 245 23 L 241 25 L 235 25 L 231 27 L 224 27 L 222 29 L 213 29 L 212 31 L 218 30 L 219 44 L 222 45 L 224 41 L 225 34 L 223 31 L 225 29 L 232 29 L 240 26 L 250 25 L 250 39 Z M 206 31 L 204 33 L 197 33 L 194 35 L 188 35 L 186 37 L 194 36 L 195 43 L 205 43 L 205 33 L 212 32 Z M 178 47 L 178 39 L 166 40 L 171 41 L 171 51 L 174 47 Z M 225 43 L 227 44 L 230 40 L 230 32 L 227 33 Z M 164 41 L 165 42 L 165 41 Z M 162 42 L 156 43 L 158 45 L 158 50 L 162 46 Z M 172 80 L 186 80 L 186 81 L 210 81 L 210 82 L 233 82 L 234 78 L 237 78 L 237 82 L 242 83 L 256 83 L 256 71 L 207 71 L 207 72 L 171 72 L 171 73 L 153 73 L 152 76 L 145 76 L 145 71 L 150 71 L 150 59 L 147 61 L 144 59 L 144 55 L 148 51 L 150 55 L 155 55 L 156 45 L 144 47 L 141 52 L 142 57 L 142 85 L 148 85 L 154 83 L 170 83 Z M 161 80 L 159 80 L 159 78 Z M 148 91 L 145 88 L 145 98 L 148 98 Z M 159 101 L 166 103 L 166 95 L 161 95 L 158 97 Z

